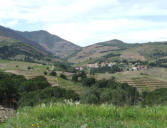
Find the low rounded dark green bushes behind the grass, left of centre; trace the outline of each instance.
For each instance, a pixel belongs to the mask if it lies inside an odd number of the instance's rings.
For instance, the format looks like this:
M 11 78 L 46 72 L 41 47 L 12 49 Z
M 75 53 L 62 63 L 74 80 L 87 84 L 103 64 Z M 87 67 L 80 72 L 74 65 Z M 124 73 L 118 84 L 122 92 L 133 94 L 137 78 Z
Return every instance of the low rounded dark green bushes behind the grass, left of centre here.
M 59 87 L 48 87 L 41 91 L 33 91 L 24 94 L 19 100 L 19 106 L 34 106 L 40 103 L 60 101 L 64 99 L 79 100 L 79 95 L 72 90 L 65 90 Z

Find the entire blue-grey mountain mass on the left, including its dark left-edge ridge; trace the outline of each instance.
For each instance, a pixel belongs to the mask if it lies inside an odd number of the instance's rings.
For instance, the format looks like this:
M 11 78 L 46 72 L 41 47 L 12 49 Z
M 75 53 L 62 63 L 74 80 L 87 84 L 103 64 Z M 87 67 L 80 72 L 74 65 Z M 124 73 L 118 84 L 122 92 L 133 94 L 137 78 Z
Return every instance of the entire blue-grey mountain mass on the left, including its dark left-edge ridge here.
M 0 26 L 0 36 L 9 37 L 27 44 L 31 44 L 41 51 L 53 54 L 60 58 L 68 57 L 81 48 L 67 40 L 56 35 L 52 35 L 47 31 L 21 32 Z

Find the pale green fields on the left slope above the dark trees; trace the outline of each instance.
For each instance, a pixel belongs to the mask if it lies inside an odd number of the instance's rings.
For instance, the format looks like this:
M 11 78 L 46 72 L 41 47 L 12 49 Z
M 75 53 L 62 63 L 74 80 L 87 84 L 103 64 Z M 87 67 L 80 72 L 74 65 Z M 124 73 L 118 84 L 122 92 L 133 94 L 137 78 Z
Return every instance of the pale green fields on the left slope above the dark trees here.
M 32 67 L 31 70 L 28 70 L 28 67 Z M 48 69 L 49 67 L 49 69 Z M 5 72 L 14 73 L 17 75 L 23 75 L 27 79 L 44 75 L 44 71 L 50 71 L 52 70 L 52 65 L 42 65 L 42 64 L 36 64 L 36 63 L 28 63 L 28 62 L 22 62 L 22 61 L 8 61 L 8 60 L 0 60 L 0 70 Z M 59 77 L 59 74 L 61 74 L 62 71 L 57 71 L 57 77 L 45 75 L 48 82 L 52 86 L 61 86 L 62 88 L 71 89 L 74 90 L 77 93 L 82 93 L 85 90 L 85 87 L 80 86 L 79 83 L 74 83 L 69 80 L 64 80 Z M 71 79 L 71 73 L 63 72 L 67 78 Z

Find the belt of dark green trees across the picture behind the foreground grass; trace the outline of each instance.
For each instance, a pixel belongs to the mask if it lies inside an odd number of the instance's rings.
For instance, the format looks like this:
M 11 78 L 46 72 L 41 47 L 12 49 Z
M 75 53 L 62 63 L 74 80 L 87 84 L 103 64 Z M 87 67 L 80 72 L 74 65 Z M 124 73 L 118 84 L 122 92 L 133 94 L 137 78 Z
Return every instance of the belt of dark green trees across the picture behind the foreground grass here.
M 82 85 L 78 86 L 84 86 L 86 90 L 78 95 L 72 90 L 51 87 L 43 76 L 27 80 L 23 76 L 1 72 L 0 104 L 8 107 L 23 107 L 63 99 L 81 100 L 82 103 L 88 104 L 108 103 L 119 106 L 139 103 L 143 105 L 167 104 L 167 89 L 139 94 L 135 87 L 116 82 L 114 78 L 96 80 L 87 77 L 85 72 L 74 74 L 72 80 L 80 82 Z

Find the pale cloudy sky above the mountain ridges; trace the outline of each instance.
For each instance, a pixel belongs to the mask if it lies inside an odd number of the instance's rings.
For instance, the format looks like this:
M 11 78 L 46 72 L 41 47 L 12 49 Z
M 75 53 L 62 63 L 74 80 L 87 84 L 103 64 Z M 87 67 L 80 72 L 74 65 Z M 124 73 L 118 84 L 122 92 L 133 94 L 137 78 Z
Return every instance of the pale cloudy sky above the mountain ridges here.
M 167 41 L 166 0 L 3 0 L 0 25 L 46 30 L 80 46 Z

